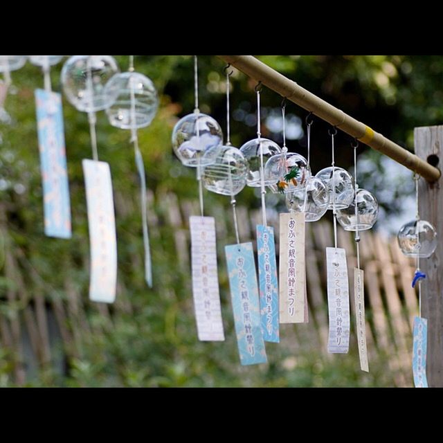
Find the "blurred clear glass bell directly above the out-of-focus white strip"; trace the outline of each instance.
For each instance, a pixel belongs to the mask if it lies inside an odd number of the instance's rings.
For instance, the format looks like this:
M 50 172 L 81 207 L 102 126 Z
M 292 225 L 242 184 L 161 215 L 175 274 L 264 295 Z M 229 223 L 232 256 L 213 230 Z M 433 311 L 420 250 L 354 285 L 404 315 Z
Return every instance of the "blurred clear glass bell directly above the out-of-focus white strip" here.
M 119 69 L 111 55 L 74 55 L 63 65 L 62 86 L 66 98 L 79 111 L 101 111 L 116 96 L 105 94 L 105 84 Z

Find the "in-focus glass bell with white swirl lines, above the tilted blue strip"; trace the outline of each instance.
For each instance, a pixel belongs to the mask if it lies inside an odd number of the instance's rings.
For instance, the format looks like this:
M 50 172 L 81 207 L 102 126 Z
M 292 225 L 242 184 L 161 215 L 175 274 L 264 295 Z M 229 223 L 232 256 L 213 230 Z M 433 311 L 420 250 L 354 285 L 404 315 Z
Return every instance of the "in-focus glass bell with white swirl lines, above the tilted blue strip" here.
M 221 195 L 236 195 L 246 186 L 248 161 L 237 147 L 219 145 L 204 154 L 211 163 L 201 174 L 201 181 L 207 190 Z

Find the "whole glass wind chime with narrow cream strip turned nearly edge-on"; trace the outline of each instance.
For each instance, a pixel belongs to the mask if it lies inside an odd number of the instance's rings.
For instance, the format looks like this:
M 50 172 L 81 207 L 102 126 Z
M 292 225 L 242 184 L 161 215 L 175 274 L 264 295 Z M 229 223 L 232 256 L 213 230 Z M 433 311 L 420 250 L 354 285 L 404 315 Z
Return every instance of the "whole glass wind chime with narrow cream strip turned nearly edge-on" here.
M 345 230 L 355 232 L 355 244 L 357 255 L 357 266 L 354 268 L 354 305 L 356 315 L 357 343 L 359 346 L 360 368 L 369 372 L 368 350 L 366 347 L 366 327 L 365 327 L 365 294 L 364 294 L 364 273 L 360 269 L 360 235 L 361 230 L 368 230 L 374 226 L 379 213 L 377 199 L 371 192 L 359 188 L 357 184 L 357 155 L 358 141 L 352 143 L 354 148 L 354 201 L 347 208 L 336 211 L 338 223 Z

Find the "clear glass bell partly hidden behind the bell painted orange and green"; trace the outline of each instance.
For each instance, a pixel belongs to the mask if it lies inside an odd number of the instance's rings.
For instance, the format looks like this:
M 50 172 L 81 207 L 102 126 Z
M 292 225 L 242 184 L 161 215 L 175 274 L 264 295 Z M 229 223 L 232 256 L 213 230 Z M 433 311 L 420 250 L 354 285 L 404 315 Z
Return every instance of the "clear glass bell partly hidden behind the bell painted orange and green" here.
M 285 196 L 288 210 L 305 213 L 305 221 L 319 220 L 325 215 L 329 205 L 327 186 L 316 177 L 308 179 L 305 189 L 287 192 Z

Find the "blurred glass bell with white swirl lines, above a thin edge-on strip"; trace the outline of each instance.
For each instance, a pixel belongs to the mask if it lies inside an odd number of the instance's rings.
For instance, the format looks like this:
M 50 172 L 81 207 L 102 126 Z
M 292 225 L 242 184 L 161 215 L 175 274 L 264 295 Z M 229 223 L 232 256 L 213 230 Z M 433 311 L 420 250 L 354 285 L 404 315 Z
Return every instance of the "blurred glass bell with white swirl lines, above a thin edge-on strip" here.
M 106 114 L 109 123 L 120 129 L 136 129 L 150 125 L 159 107 L 154 83 L 145 75 L 136 72 L 114 75 L 107 82 L 104 94 L 115 97 L 113 104 L 106 109 Z

